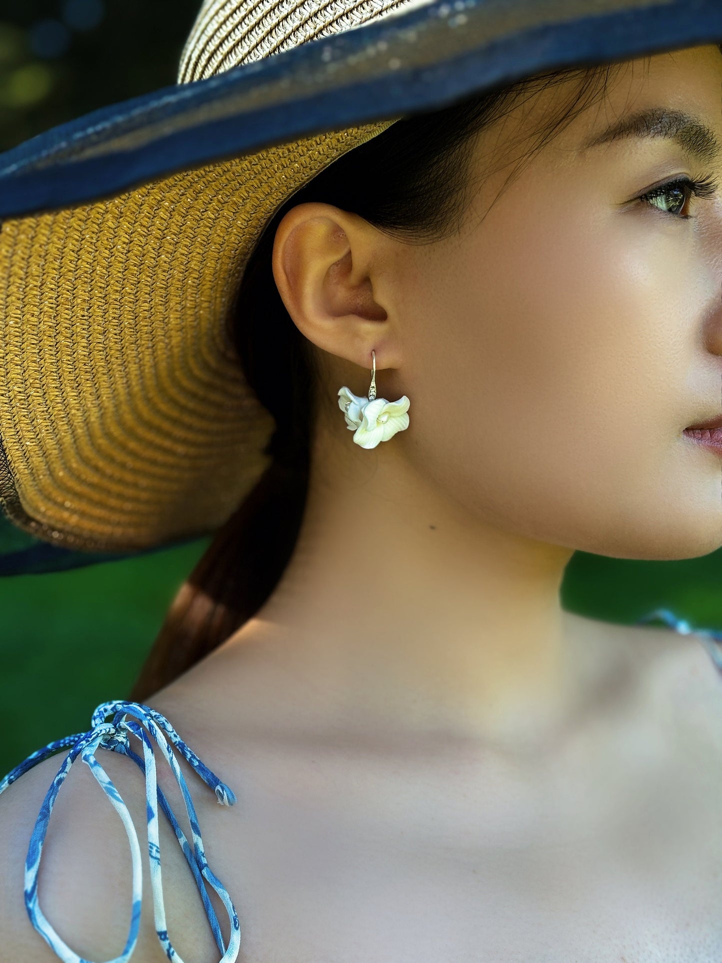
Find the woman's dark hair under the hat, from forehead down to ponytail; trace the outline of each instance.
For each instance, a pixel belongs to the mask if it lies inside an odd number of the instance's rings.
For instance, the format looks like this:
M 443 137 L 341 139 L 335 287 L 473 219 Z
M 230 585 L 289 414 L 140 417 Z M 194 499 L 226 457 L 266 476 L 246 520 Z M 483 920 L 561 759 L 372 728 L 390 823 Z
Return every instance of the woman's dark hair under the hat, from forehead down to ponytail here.
M 275 419 L 267 448 L 273 460 L 181 586 L 131 698 L 142 701 L 168 685 L 258 612 L 296 544 L 308 491 L 319 373 L 310 343 L 286 311 L 273 279 L 271 252 L 279 221 L 297 204 L 323 201 L 411 244 L 441 240 L 459 229 L 475 192 L 469 162 L 479 132 L 522 98 L 579 80 L 544 118 L 542 129 L 525 131 L 525 137 L 538 136 L 520 155 L 506 186 L 555 134 L 606 94 L 618 66 L 548 71 L 442 110 L 403 117 L 323 169 L 279 208 L 245 267 L 235 302 L 244 305 L 243 324 L 237 323 L 241 315 L 235 309 L 228 315 L 228 333 L 245 377 Z M 279 384 L 290 389 L 280 392 Z

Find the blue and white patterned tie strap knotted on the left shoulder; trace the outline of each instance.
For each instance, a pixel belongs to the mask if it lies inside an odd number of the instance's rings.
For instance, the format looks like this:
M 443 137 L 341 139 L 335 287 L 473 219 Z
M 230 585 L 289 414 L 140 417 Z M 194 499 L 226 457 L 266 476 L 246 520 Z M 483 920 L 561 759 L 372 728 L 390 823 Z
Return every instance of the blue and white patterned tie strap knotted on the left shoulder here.
M 115 713 L 113 720 L 111 722 L 107 722 L 106 718 L 113 713 Z M 158 743 L 161 751 L 168 761 L 168 765 L 175 776 L 176 782 L 180 787 L 184 802 L 186 804 L 186 812 L 188 813 L 188 820 L 190 822 L 191 831 L 193 834 L 193 849 L 191 849 L 183 830 L 178 825 L 178 820 L 175 819 L 175 816 L 168 805 L 166 796 L 157 785 L 155 755 L 148 735 L 142 726 L 139 725 L 138 722 L 133 721 L 132 718 L 129 718 L 129 716 L 136 716 L 136 718 L 140 719 L 145 726 L 147 726 L 150 734 Z M 161 713 L 156 712 L 154 709 L 150 709 L 148 706 L 144 706 L 138 702 L 123 702 L 121 700 L 104 702 L 102 705 L 99 705 L 92 714 L 91 724 L 92 729 L 90 732 L 76 733 L 74 736 L 66 736 L 64 739 L 57 740 L 56 742 L 49 742 L 46 746 L 44 746 L 44 748 L 32 753 L 24 762 L 20 763 L 19 766 L 13 768 L 13 770 L 8 773 L 2 782 L 0 782 L 0 793 L 3 793 L 8 786 L 12 785 L 12 783 L 21 775 L 23 775 L 23 773 L 27 772 L 28 769 L 37 766 L 38 763 L 42 762 L 43 759 L 47 759 L 49 756 L 60 751 L 61 749 L 65 749 L 68 746 L 70 747 L 70 751 L 64 759 L 63 765 L 58 770 L 58 774 L 53 779 L 52 785 L 47 791 L 47 794 L 42 802 L 38 820 L 35 824 L 33 835 L 30 840 L 30 846 L 28 847 L 28 855 L 25 861 L 25 907 L 28 911 L 28 916 L 30 917 L 31 923 L 35 926 L 51 949 L 54 950 L 62 960 L 64 960 L 64 963 L 89 963 L 88 960 L 79 956 L 74 950 L 71 950 L 66 943 L 64 943 L 64 941 L 43 915 L 38 902 L 38 873 L 40 854 L 42 852 L 42 845 L 45 839 L 48 821 L 50 820 L 50 813 L 52 812 L 53 804 L 58 796 L 58 793 L 60 792 L 60 788 L 64 783 L 65 776 L 67 775 L 73 762 L 78 756 L 80 756 L 83 762 L 88 765 L 93 776 L 98 781 L 110 801 L 113 803 L 118 816 L 122 820 L 123 825 L 125 826 L 125 832 L 128 836 L 128 842 L 130 843 L 131 857 L 133 861 L 133 896 L 128 939 L 125 943 L 125 948 L 122 954 L 120 956 L 116 956 L 116 958 L 113 960 L 109 960 L 108 963 L 127 963 L 127 960 L 130 959 L 133 950 L 135 950 L 136 943 L 138 942 L 138 932 L 141 923 L 141 847 L 138 843 L 138 835 L 136 833 L 135 826 L 133 825 L 133 820 L 130 818 L 128 807 L 123 802 L 120 794 L 118 794 L 115 785 L 106 771 L 95 759 L 95 751 L 98 746 L 101 746 L 105 749 L 112 749 L 114 752 L 120 752 L 123 755 L 129 756 L 135 763 L 137 763 L 145 775 L 146 816 L 148 822 L 148 855 L 150 857 L 150 881 L 153 893 L 153 913 L 158 939 L 163 947 L 163 950 L 166 952 L 168 959 L 176 960 L 177 963 L 183 963 L 183 960 L 173 949 L 170 943 L 168 938 L 168 929 L 166 927 L 166 911 L 163 902 L 163 887 L 161 884 L 161 848 L 158 837 L 158 803 L 160 803 L 161 809 L 163 809 L 170 824 L 175 830 L 175 835 L 178 838 L 178 842 L 185 853 L 188 864 L 193 872 L 193 877 L 203 900 L 203 905 L 205 907 L 209 923 L 211 924 L 214 936 L 216 937 L 216 943 L 219 947 L 220 953 L 222 954 L 220 963 L 232 963 L 232 961 L 236 960 L 238 957 L 238 951 L 241 944 L 241 927 L 238 921 L 238 915 L 233 903 L 231 902 L 231 898 L 228 896 L 228 893 L 225 890 L 225 887 L 208 866 L 208 862 L 206 861 L 205 857 L 205 851 L 203 849 L 203 841 L 200 837 L 200 827 L 195 814 L 193 800 L 191 799 L 191 794 L 188 790 L 188 786 L 186 785 L 186 780 L 184 779 L 183 773 L 178 766 L 175 755 L 168 745 L 166 736 L 164 736 L 164 732 L 168 736 L 170 742 L 173 743 L 181 755 L 193 767 L 203 782 L 205 782 L 206 785 L 215 791 L 219 803 L 224 806 L 232 806 L 236 801 L 236 796 L 224 783 L 219 780 L 218 776 L 216 776 L 209 768 L 206 768 L 203 765 L 195 753 L 193 753 L 193 751 L 176 733 L 176 731 L 168 722 L 168 719 L 165 716 L 162 716 Z M 142 742 L 144 762 L 143 759 L 141 759 L 141 757 L 130 748 L 129 735 L 136 736 Z M 230 942 L 227 949 L 225 949 L 223 946 L 223 938 L 220 932 L 219 921 L 208 896 L 204 879 L 208 880 L 211 886 L 213 886 L 213 888 L 216 890 L 219 898 L 222 900 L 223 905 L 225 906 L 226 912 L 228 913 L 228 919 L 231 923 L 231 933 Z

